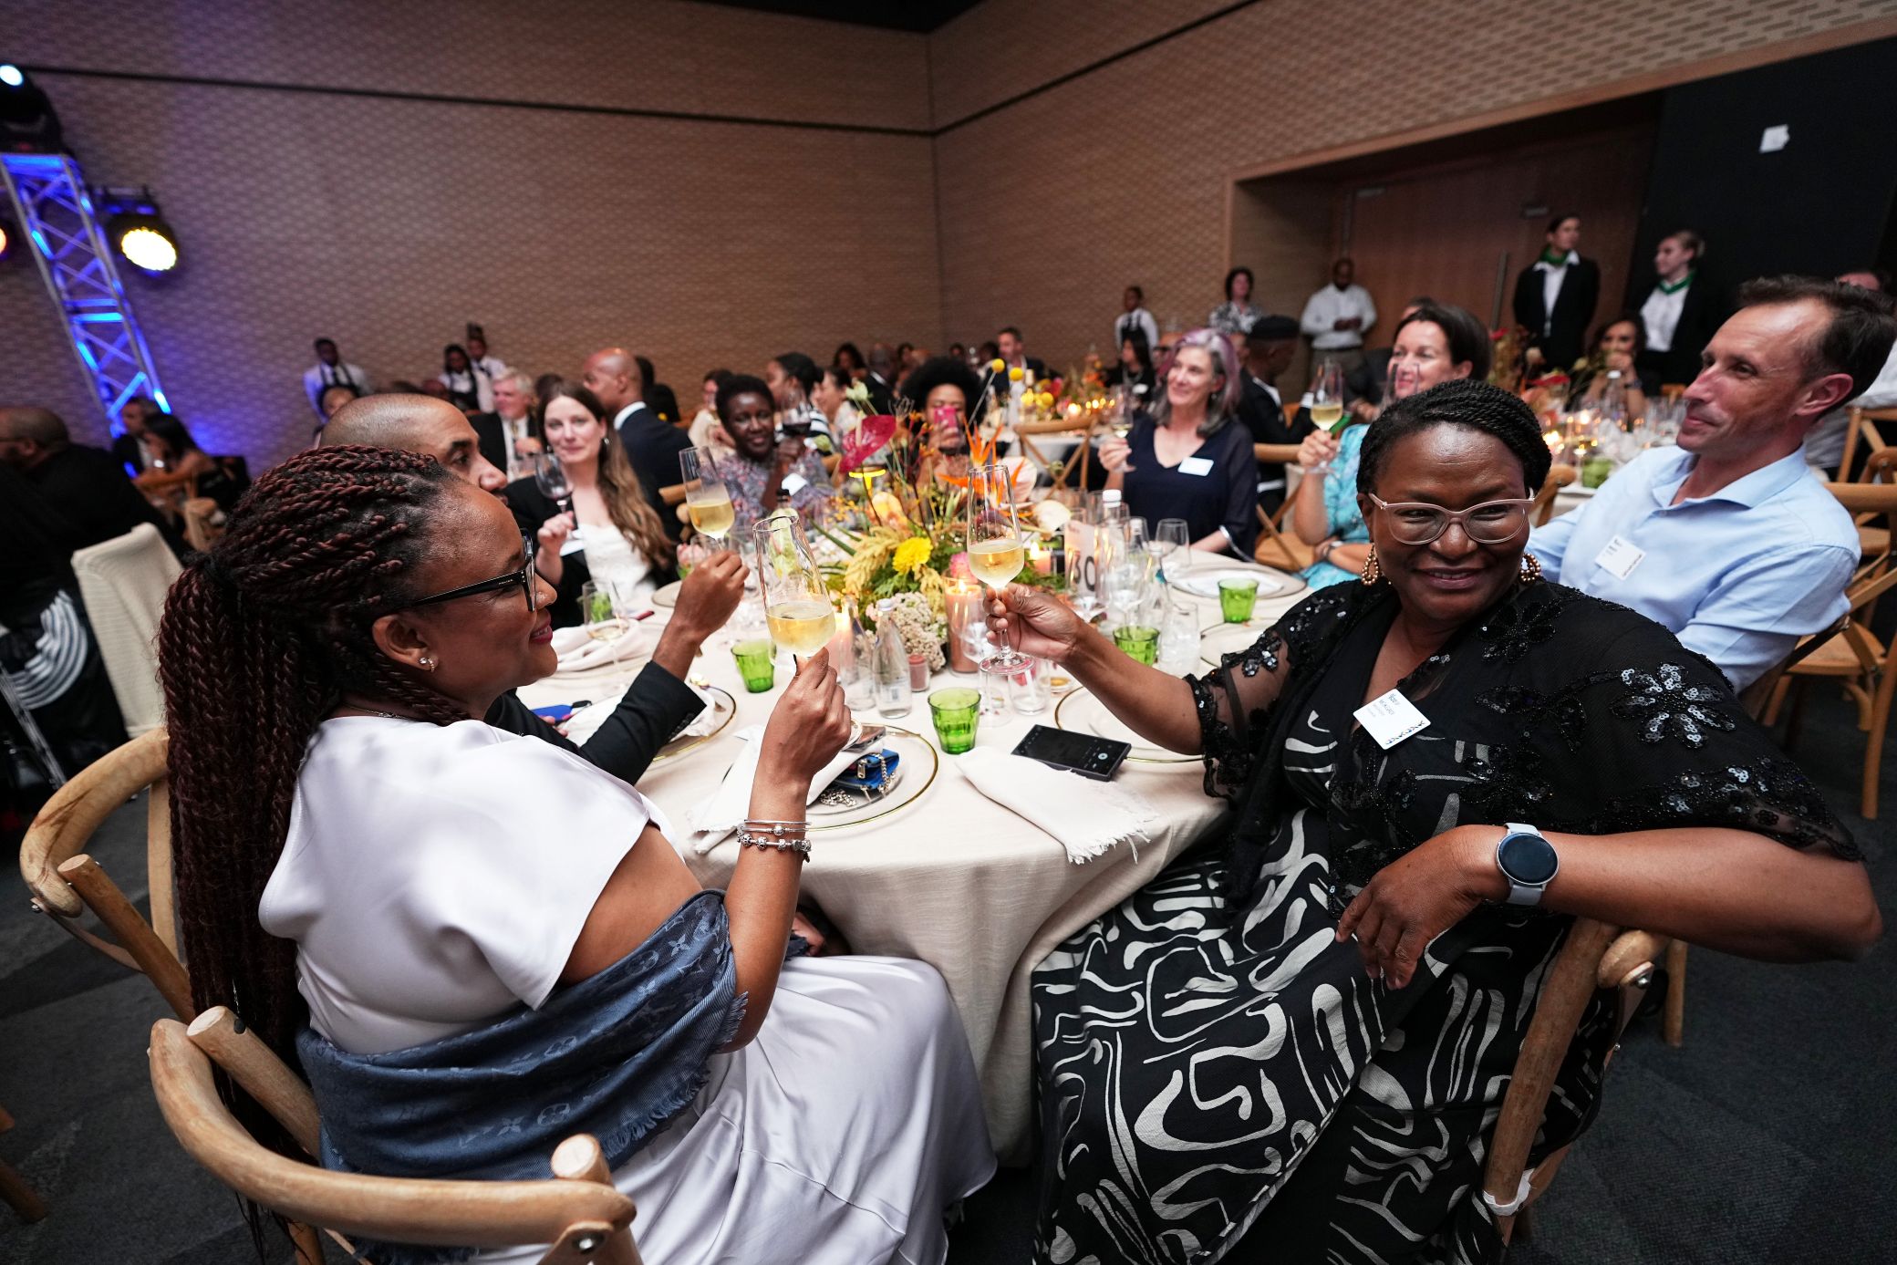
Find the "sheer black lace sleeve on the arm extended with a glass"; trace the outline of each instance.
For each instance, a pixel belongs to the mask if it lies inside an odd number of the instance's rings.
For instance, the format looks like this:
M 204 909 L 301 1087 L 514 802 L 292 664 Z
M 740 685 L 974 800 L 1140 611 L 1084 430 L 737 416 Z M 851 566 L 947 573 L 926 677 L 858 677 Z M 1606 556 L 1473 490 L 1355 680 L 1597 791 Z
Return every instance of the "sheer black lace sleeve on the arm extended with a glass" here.
M 1273 709 L 1298 675 L 1322 656 L 1318 649 L 1335 633 L 1356 584 L 1335 584 L 1305 597 L 1244 651 L 1225 654 L 1203 677 L 1186 677 L 1199 707 L 1199 740 L 1205 751 L 1205 793 L 1233 798 L 1252 779 Z

